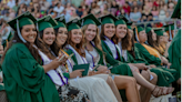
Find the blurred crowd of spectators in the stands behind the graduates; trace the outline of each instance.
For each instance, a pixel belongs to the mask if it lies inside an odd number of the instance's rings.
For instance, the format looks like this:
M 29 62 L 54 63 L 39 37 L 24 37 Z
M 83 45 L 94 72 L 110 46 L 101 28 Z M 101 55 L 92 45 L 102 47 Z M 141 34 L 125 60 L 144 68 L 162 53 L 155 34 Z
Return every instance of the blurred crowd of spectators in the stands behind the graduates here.
M 178 0 L 0 0 L 0 35 L 2 41 L 7 39 L 11 28 L 8 21 L 31 12 L 37 19 L 47 14 L 52 18 L 65 17 L 65 21 L 80 19 L 89 13 L 97 18 L 113 14 L 124 16 L 135 23 L 152 22 L 149 27 L 162 27 L 173 23 L 169 21 Z M 176 22 L 180 28 L 180 20 Z

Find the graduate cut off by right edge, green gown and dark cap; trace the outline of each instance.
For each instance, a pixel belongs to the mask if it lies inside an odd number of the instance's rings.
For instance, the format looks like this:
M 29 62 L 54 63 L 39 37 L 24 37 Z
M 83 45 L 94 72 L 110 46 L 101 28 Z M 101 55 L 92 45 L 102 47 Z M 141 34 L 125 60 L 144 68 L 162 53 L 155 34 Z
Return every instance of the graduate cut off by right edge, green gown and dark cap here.
M 181 19 L 181 0 L 178 0 L 171 18 Z M 171 68 L 178 71 L 175 79 L 178 80 L 178 84 L 181 84 L 181 29 L 170 44 L 169 61 L 172 63 Z

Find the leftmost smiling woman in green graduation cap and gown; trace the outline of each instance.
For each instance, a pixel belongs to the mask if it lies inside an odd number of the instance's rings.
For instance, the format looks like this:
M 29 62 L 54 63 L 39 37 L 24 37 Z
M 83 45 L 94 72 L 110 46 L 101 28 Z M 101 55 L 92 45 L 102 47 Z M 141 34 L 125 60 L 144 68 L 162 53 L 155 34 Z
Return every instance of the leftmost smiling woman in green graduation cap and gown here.
M 47 67 L 33 47 L 37 41 L 36 18 L 26 12 L 8 22 L 16 31 L 2 57 L 4 88 L 10 102 L 59 102 L 58 91 L 46 74 Z

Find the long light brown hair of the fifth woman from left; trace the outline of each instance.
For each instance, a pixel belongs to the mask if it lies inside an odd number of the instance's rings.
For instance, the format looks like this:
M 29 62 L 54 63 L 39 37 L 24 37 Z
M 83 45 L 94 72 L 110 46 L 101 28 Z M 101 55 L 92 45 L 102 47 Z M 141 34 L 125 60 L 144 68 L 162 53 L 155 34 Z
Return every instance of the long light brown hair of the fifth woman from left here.
M 84 34 L 85 30 L 88 29 L 88 27 L 89 27 L 89 24 L 82 27 L 82 32 L 83 32 L 83 34 Z M 85 42 L 85 39 L 84 39 L 84 42 Z M 101 39 L 100 39 L 100 37 L 99 37 L 99 28 L 98 28 L 98 27 L 97 27 L 97 35 L 95 35 L 95 38 L 93 39 L 93 42 L 94 42 L 95 47 L 97 47 L 99 50 L 102 51 Z

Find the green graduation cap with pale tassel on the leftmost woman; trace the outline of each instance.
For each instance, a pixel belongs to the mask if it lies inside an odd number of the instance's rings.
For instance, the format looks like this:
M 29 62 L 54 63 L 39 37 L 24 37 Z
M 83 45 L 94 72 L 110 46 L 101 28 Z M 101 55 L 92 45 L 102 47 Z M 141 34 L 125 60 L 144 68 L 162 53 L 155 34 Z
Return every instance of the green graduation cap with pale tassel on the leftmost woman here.
M 17 17 L 16 19 L 9 21 L 8 23 L 14 31 L 18 32 L 20 40 L 26 43 L 27 41 L 22 38 L 20 28 L 28 24 L 36 24 L 36 22 L 37 19 L 29 11 L 27 11 L 23 14 Z

